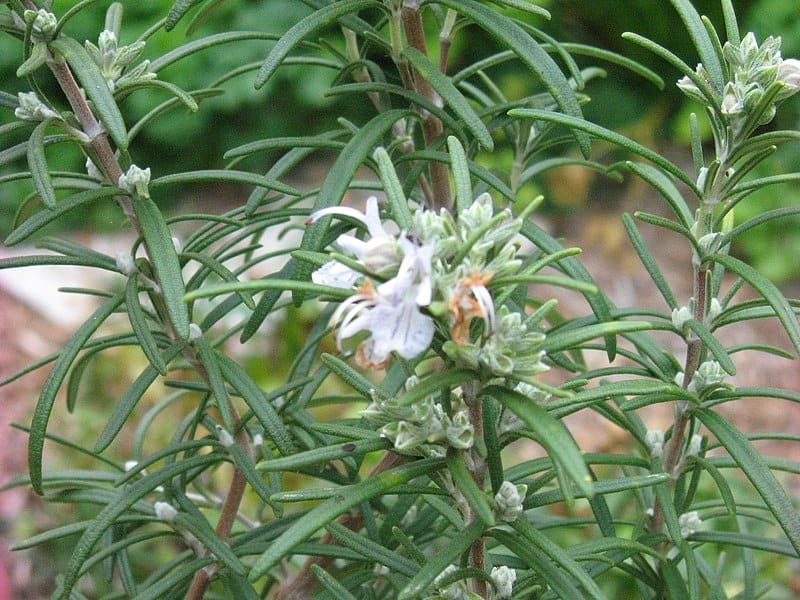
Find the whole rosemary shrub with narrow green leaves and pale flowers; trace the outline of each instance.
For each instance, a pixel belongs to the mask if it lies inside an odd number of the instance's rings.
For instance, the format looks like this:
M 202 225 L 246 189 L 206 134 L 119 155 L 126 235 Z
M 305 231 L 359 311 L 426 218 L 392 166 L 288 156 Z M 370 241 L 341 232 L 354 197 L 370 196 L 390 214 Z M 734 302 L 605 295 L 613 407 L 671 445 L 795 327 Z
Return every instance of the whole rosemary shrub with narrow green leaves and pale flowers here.
M 730 0 L 719 30 L 689 0 L 671 0 L 696 66 L 625 36 L 678 69 L 696 104 L 688 172 L 582 114 L 605 63 L 646 85 L 661 78 L 552 39 L 540 29 L 547 11 L 525 1 L 305 0 L 307 16 L 286 31 L 270 30 L 264 2 L 253 31 L 197 34 L 223 3 L 176 0 L 136 38 L 127 3 L 113 3 L 91 39 L 71 32 L 92 0 L 2 4 L 27 91 L 0 91 L 0 183 L 30 184 L 5 243 L 35 239 L 48 252 L 0 268 L 110 274 L 107 289 L 78 290 L 97 308 L 59 352 L 5 379 L 50 369 L 26 425 L 29 474 L 14 485 L 92 511 L 18 544 L 70 540 L 54 597 L 773 597 L 759 557 L 800 552 L 800 517 L 774 472 L 798 464 L 760 454 L 717 408 L 800 401 L 798 390 L 732 379 L 740 359 L 794 356 L 800 303 L 729 253 L 745 231 L 800 211 L 734 220 L 752 192 L 800 177 L 754 176 L 779 145 L 800 141 L 770 127 L 800 90 L 800 61 L 781 55 L 779 38 L 741 36 Z M 191 39 L 162 54 L 151 47 L 177 30 Z M 472 58 L 451 61 L 451 45 L 473 36 L 482 44 Z M 162 73 L 197 54 L 237 56 L 253 40 L 262 59 L 209 73 L 206 87 L 184 90 Z M 507 64 L 525 73 L 519 97 L 494 77 Z M 241 132 L 218 164 L 188 172 L 137 162 L 139 136 L 159 119 L 202 111 L 242 80 L 255 98 L 243 110 L 256 110 L 258 90 L 285 65 L 332 73 L 328 94 L 363 110 L 322 132 Z M 134 95 L 147 112 L 133 114 Z M 598 140 L 629 160 L 593 161 Z M 80 150 L 84 171 L 49 166 L 62 145 Z M 287 183 L 319 152 L 333 157 L 321 185 Z M 648 203 L 663 210 L 622 223 L 663 306 L 615 306 L 578 250 L 532 220 L 541 198 L 521 190 L 567 164 L 650 185 Z M 176 189 L 202 182 L 245 191 L 224 214 L 165 213 Z M 343 204 L 351 190 L 366 201 Z M 136 238 L 116 256 L 39 235 L 104 203 Z M 691 297 L 673 291 L 641 223 L 690 250 Z M 301 232 L 296 246 L 278 243 L 286 231 Z M 586 314 L 560 312 L 541 296 L 547 286 L 582 296 Z M 756 298 L 740 299 L 742 287 Z M 267 320 L 301 305 L 318 317 L 285 370 L 270 357 L 243 360 L 263 348 Z M 785 340 L 730 346 L 718 336 L 762 318 L 777 319 Z M 284 341 L 269 340 L 275 355 Z M 83 402 L 88 363 L 124 346 L 146 362 L 102 430 L 59 437 L 50 415 L 60 393 L 70 407 Z M 556 383 L 543 381 L 548 370 Z M 674 407 L 666 431 L 642 413 L 657 403 Z M 582 451 L 563 422 L 578 411 L 621 428 L 628 443 Z M 171 435 L 154 444 L 150 429 L 165 419 Z M 120 458 L 126 425 L 135 443 Z M 543 456 L 525 458 L 525 441 Z M 94 468 L 57 466 L 74 452 Z M 157 564 L 145 560 L 154 548 Z

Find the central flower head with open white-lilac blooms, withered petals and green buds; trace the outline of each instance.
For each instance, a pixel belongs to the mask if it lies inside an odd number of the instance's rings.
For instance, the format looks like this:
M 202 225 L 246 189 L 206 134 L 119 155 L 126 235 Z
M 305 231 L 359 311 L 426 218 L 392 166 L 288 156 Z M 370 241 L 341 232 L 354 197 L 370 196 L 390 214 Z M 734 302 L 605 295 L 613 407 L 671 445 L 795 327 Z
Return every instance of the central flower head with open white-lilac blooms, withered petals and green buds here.
M 540 373 L 544 334 L 531 331 L 522 315 L 495 310 L 491 285 L 516 274 L 515 240 L 522 219 L 505 210 L 494 214 L 482 194 L 454 216 L 418 209 L 410 231 L 398 231 L 380 218 L 376 198 L 361 213 L 348 207 L 317 211 L 314 222 L 337 215 L 363 223 L 368 237 L 341 235 L 343 255 L 312 274 L 315 283 L 355 293 L 334 313 L 340 350 L 349 338 L 367 333 L 356 362 L 382 368 L 392 352 L 414 358 L 425 352 L 437 328 L 444 352 L 458 364 L 489 376 L 524 379 Z M 482 327 L 473 327 L 476 321 Z

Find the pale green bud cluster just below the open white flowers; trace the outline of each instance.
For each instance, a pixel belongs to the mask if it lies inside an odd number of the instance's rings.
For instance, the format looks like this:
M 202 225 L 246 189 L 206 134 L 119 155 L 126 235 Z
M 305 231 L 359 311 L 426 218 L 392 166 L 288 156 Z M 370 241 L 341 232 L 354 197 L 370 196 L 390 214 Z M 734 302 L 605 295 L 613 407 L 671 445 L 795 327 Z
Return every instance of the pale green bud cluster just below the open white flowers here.
M 418 379 L 411 377 L 406 387 L 417 383 Z M 376 398 L 362 414 L 380 427 L 380 434 L 392 441 L 396 451 L 443 457 L 448 447 L 466 450 L 474 441 L 474 427 L 459 390 L 450 394 L 449 404 L 442 405 L 441 394 L 431 394 L 410 406 L 400 406 L 393 398 Z

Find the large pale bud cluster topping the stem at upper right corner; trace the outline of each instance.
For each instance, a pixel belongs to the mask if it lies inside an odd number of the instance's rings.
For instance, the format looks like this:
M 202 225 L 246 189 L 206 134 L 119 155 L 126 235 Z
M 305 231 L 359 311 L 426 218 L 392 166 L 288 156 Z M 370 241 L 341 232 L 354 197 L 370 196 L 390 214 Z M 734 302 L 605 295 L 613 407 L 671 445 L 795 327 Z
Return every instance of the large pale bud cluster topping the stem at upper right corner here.
M 745 137 L 758 125 L 769 123 L 777 105 L 800 91 L 800 60 L 781 57 L 780 37 L 770 36 L 759 46 L 755 35 L 748 33 L 739 44 L 727 42 L 722 54 L 729 78 L 722 90 L 702 64 L 697 65 L 696 75 L 718 96 L 716 108 L 734 136 Z M 695 100 L 709 101 L 689 77 L 678 81 L 678 87 Z

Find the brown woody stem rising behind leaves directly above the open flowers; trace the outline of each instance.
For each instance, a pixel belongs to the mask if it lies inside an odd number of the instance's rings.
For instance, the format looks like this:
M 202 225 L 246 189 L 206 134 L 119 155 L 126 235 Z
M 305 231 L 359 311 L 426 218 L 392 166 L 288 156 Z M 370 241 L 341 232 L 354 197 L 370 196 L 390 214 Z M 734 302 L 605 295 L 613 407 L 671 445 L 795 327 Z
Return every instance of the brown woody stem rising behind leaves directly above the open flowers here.
M 406 34 L 406 41 L 408 45 L 422 52 L 428 56 L 428 48 L 425 43 L 425 30 L 422 25 L 422 15 L 419 9 L 414 6 L 405 6 L 402 12 L 403 31 Z M 414 73 L 413 87 L 417 93 L 434 104 L 441 105 L 442 99 L 436 90 L 431 87 L 424 77 L 418 72 Z M 434 140 L 442 135 L 444 127 L 439 117 L 423 111 L 422 120 L 422 135 L 425 139 L 425 146 L 430 146 Z M 447 165 L 444 163 L 432 161 L 428 165 L 428 172 L 431 179 L 431 187 L 433 188 L 433 208 L 452 208 L 452 199 L 450 198 L 450 172 Z

